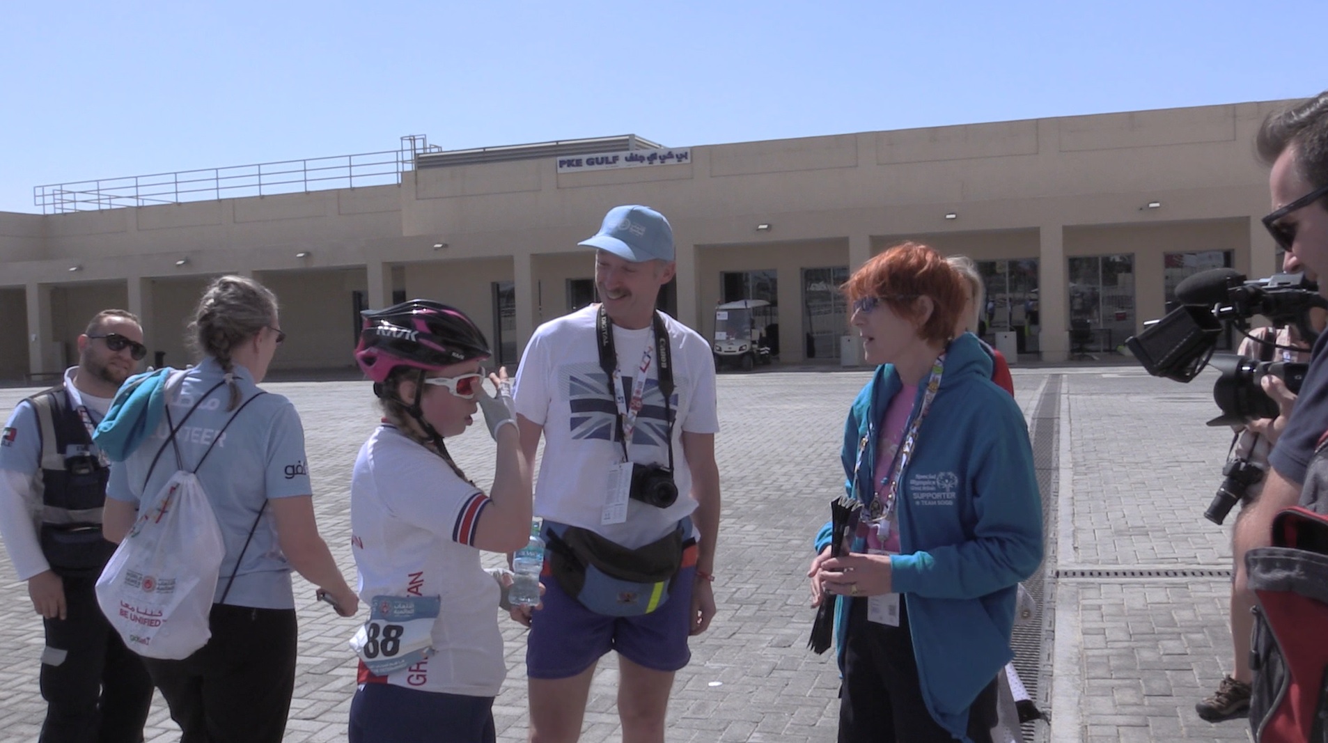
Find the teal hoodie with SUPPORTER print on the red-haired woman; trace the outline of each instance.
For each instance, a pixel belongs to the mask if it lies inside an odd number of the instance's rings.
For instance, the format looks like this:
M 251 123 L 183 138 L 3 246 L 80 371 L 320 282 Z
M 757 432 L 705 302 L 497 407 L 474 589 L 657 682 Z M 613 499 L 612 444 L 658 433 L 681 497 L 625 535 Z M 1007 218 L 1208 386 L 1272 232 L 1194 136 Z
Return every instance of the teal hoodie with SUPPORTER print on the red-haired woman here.
M 907 604 L 922 697 L 931 716 L 961 740 L 968 740 L 968 707 L 1013 657 L 1016 585 L 1042 561 L 1042 506 L 1028 427 L 991 374 L 991 356 L 976 337 L 951 341 L 940 389 L 900 475 L 900 553 L 890 560 L 894 590 Z M 910 423 L 926 386 L 923 378 Z M 892 365 L 878 366 L 845 422 L 845 488 L 863 503 L 884 475 L 876 472 L 879 426 L 900 387 Z M 855 472 L 863 437 L 867 446 Z M 829 544 L 827 523 L 817 535 L 817 552 Z M 866 552 L 863 540 L 853 551 Z M 849 601 L 841 597 L 835 613 L 841 666 Z

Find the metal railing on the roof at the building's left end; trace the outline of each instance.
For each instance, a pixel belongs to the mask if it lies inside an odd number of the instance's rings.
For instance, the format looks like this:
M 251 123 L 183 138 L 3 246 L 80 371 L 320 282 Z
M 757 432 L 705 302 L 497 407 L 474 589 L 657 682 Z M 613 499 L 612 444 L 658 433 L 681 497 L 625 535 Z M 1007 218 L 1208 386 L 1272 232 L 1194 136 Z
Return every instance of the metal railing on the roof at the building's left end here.
M 401 138 L 401 147 L 380 153 L 335 155 L 230 167 L 208 167 L 56 183 L 32 188 L 42 214 L 94 211 L 244 196 L 300 194 L 329 188 L 396 186 L 414 167 L 417 155 L 437 151 L 422 134 Z

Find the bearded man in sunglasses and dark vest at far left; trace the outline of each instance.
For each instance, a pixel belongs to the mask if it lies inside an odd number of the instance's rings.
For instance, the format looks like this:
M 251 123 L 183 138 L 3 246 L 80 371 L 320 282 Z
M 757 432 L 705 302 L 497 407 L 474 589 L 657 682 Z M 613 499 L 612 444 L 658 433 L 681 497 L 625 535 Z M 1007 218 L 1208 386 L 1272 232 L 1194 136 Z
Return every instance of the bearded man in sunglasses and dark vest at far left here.
M 0 537 L 45 625 L 42 743 L 143 739 L 151 679 L 94 590 L 116 545 L 101 535 L 109 467 L 92 430 L 146 354 L 138 317 L 97 313 L 78 336 L 78 365 L 20 402 L 0 435 Z

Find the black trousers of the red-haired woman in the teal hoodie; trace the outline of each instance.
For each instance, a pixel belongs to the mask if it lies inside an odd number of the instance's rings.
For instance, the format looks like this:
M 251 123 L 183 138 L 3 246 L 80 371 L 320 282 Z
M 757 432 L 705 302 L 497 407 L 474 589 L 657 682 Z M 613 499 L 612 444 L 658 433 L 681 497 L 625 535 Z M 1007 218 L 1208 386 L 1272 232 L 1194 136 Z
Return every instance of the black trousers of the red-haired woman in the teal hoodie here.
M 992 743 L 996 679 L 968 710 L 968 738 Z M 867 600 L 853 601 L 839 690 L 839 743 L 954 743 L 922 698 L 908 612 L 900 598 L 899 626 L 867 621 Z

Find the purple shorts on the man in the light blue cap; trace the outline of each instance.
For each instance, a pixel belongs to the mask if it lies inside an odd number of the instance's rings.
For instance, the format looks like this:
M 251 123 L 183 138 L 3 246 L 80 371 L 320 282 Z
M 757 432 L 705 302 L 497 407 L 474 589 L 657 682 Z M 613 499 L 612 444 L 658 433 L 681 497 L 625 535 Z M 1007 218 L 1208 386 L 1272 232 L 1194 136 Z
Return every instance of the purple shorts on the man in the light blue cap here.
M 668 601 L 639 617 L 610 617 L 591 612 L 567 596 L 558 578 L 542 576 L 543 609 L 530 620 L 526 675 L 571 678 L 600 655 L 618 650 L 628 661 L 657 671 L 676 671 L 692 659 L 687 646 L 692 629 L 692 584 L 696 565 L 683 568 L 669 585 Z

